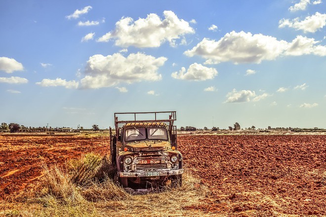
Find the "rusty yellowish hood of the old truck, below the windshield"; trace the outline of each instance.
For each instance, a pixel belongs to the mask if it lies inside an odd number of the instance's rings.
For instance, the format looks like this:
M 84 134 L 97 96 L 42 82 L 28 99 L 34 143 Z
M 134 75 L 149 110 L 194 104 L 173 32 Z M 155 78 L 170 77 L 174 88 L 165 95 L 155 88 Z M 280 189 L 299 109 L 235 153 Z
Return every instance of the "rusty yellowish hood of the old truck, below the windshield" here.
M 126 145 L 126 147 L 133 151 L 154 151 L 170 149 L 171 144 L 167 141 L 155 143 L 154 141 L 141 141 L 139 143 L 129 143 Z

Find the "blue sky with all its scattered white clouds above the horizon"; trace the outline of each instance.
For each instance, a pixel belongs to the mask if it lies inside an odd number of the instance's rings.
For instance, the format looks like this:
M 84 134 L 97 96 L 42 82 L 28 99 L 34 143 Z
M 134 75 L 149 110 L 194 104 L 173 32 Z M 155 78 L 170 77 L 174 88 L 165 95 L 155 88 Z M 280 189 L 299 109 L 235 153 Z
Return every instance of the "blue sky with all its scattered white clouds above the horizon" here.
M 323 0 L 1 0 L 0 122 L 321 127 Z

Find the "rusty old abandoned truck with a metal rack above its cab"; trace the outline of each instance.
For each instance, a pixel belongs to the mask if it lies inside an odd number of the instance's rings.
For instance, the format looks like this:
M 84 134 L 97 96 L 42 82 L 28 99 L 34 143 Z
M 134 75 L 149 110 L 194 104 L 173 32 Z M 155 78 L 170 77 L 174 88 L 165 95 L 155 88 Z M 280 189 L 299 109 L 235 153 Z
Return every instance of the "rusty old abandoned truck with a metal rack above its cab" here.
M 110 149 L 117 184 L 132 189 L 182 185 L 175 120 L 176 111 L 114 113 Z

